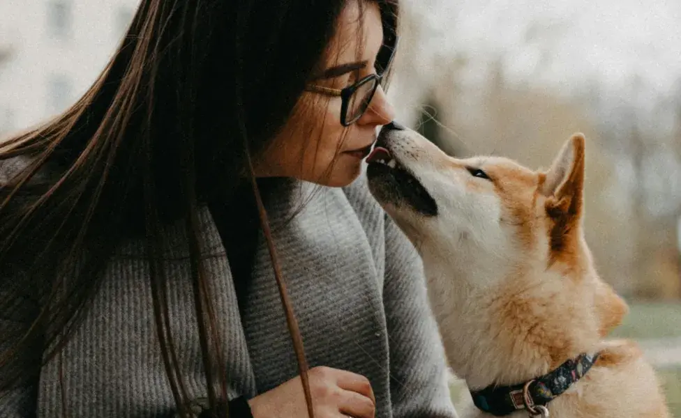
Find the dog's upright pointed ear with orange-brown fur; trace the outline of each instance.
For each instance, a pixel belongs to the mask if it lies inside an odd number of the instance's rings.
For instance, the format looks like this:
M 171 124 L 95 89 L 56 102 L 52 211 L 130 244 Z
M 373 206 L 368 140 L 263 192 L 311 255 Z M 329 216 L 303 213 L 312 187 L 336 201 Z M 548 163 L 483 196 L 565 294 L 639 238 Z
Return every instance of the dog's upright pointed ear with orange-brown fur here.
M 581 217 L 584 193 L 583 134 L 574 134 L 558 153 L 551 169 L 543 173 L 539 186 L 546 199 L 549 216 L 569 217 L 576 221 Z

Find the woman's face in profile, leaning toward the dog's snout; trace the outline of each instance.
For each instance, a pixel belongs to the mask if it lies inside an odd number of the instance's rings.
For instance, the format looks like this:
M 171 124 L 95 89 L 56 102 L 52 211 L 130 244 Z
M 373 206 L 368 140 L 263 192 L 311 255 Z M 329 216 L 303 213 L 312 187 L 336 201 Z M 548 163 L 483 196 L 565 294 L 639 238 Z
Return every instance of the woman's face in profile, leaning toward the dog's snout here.
M 359 0 L 362 1 L 362 0 Z M 345 88 L 375 72 L 383 28 L 378 5 L 348 1 L 338 19 L 317 86 Z M 360 65 L 354 65 L 361 63 Z M 359 70 L 357 67 L 361 66 Z M 254 161 L 258 177 L 292 177 L 343 187 L 359 176 L 361 162 L 376 139 L 379 125 L 394 118 L 381 87 L 361 118 L 349 127 L 340 123 L 340 97 L 306 92 L 267 150 Z

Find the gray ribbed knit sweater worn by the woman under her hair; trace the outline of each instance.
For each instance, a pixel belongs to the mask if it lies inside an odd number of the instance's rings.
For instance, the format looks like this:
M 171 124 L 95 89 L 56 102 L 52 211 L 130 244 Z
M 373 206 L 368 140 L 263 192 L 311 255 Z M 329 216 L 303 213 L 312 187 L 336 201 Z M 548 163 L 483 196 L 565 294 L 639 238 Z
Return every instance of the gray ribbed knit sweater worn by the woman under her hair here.
M 318 190 L 285 223 L 313 190 L 308 183 L 298 185 L 300 196 L 281 199 L 268 212 L 310 366 L 369 378 L 377 417 L 456 417 L 421 264 L 410 242 L 368 194 L 364 176 L 345 189 Z M 253 287 L 240 314 L 208 210 L 201 222 L 204 263 L 228 346 L 230 397 L 250 398 L 298 374 L 267 247 L 261 242 Z M 202 397 L 207 392 L 187 279 L 188 251 L 181 244 L 181 228 L 167 234 L 174 341 L 188 391 Z M 130 242 L 112 258 L 91 311 L 63 352 L 69 418 L 174 413 L 156 341 L 143 247 Z M 45 366 L 37 391 L 27 388 L 3 398 L 0 417 L 62 417 L 58 376 L 57 361 Z

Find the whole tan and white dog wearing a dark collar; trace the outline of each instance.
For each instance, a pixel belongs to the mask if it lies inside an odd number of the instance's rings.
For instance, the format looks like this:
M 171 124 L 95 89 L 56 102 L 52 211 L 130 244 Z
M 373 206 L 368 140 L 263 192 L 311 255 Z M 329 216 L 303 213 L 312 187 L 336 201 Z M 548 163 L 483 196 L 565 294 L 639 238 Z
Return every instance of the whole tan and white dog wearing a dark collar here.
M 457 160 L 391 124 L 367 162 L 373 196 L 423 258 L 449 364 L 477 401 L 470 416 L 670 416 L 636 343 L 603 339 L 628 308 L 583 237 L 581 134 L 532 171 Z

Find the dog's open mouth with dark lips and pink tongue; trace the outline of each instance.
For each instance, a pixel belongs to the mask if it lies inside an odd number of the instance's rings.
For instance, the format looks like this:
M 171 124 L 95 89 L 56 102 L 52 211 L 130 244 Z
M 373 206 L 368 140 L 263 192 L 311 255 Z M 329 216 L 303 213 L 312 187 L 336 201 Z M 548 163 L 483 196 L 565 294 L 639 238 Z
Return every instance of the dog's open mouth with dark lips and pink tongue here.
M 437 215 L 437 203 L 414 174 L 400 164 L 389 150 L 376 146 L 366 158 L 367 176 L 375 194 L 387 201 L 405 201 L 425 216 Z

